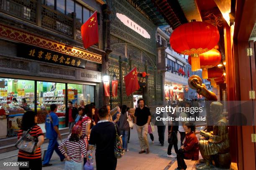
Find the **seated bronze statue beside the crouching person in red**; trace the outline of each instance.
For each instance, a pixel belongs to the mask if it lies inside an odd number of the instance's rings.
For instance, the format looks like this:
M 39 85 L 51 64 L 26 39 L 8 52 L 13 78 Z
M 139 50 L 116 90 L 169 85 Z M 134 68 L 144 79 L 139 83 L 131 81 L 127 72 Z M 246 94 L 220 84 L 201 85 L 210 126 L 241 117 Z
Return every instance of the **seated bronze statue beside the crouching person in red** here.
M 205 137 L 204 140 L 199 140 L 199 150 L 205 164 L 197 166 L 197 170 L 210 169 L 212 156 L 216 167 L 230 168 L 228 127 L 227 120 L 223 117 L 223 104 L 218 101 L 212 102 L 210 114 L 212 114 L 215 126 L 213 126 L 212 132 L 200 131 L 200 134 Z

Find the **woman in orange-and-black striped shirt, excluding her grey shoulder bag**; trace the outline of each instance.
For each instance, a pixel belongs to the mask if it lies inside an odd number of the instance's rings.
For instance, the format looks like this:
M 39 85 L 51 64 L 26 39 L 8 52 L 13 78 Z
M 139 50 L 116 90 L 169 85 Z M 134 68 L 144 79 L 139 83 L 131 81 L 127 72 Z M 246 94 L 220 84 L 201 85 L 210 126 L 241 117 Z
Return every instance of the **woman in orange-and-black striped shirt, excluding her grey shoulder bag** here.
M 37 116 L 33 111 L 28 111 L 23 114 L 21 128 L 18 132 L 18 140 L 22 137 L 23 132 L 26 132 L 28 129 L 31 129 L 29 134 L 38 139 L 36 145 L 36 151 L 34 154 L 28 154 L 19 150 L 18 152 L 18 161 L 28 161 L 28 168 L 20 168 L 22 170 L 41 170 L 42 169 L 42 158 L 41 158 L 41 148 L 40 146 L 44 143 L 44 134 L 42 129 L 36 125 Z

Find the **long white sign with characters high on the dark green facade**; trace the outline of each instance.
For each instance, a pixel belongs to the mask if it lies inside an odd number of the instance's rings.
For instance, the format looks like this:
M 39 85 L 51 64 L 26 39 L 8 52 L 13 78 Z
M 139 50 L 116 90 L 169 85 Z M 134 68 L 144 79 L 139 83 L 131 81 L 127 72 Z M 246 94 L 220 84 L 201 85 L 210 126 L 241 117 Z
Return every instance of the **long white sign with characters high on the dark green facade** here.
M 120 14 L 120 13 L 116 13 L 116 16 L 117 16 L 117 18 L 119 18 L 121 20 L 121 22 L 124 25 L 126 25 L 129 28 L 133 29 L 134 31 L 136 31 L 138 34 L 140 34 L 144 38 L 149 38 L 150 39 L 149 33 L 144 28 L 142 28 L 140 25 L 135 23 L 133 20 L 131 20 L 127 16 L 125 16 L 123 14 Z

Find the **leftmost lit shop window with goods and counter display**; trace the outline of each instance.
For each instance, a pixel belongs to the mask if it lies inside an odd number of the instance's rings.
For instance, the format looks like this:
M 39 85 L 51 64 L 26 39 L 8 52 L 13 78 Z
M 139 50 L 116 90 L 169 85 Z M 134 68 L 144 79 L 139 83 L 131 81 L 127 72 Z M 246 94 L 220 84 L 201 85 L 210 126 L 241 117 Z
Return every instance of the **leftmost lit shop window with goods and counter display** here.
M 1 115 L 7 118 L 1 120 L 2 127 L 6 124 L 7 128 L 6 131 L 2 129 L 1 136 L 17 135 L 24 112 L 34 109 L 34 92 L 35 81 L 0 78 Z

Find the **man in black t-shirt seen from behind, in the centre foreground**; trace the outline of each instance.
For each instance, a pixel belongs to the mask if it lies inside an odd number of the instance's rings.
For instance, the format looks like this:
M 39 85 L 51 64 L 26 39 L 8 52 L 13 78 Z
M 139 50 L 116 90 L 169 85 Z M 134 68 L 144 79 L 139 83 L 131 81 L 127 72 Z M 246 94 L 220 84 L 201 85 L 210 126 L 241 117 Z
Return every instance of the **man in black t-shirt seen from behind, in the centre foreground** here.
M 96 145 L 95 160 L 97 170 L 115 170 L 117 159 L 114 154 L 114 145 L 116 133 L 120 136 L 121 133 L 115 124 L 108 121 L 108 109 L 102 107 L 98 111 L 100 121 L 92 127 L 90 134 L 88 150 L 92 150 Z

